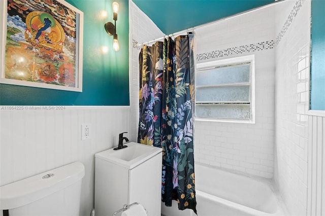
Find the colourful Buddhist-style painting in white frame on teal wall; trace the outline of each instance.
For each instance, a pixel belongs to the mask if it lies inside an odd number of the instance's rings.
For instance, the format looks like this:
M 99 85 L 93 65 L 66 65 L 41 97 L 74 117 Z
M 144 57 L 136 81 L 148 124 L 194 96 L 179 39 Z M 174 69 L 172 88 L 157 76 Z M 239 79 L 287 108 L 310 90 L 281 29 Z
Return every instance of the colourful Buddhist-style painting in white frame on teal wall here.
M 0 5 L 0 83 L 82 92 L 83 12 L 63 0 Z

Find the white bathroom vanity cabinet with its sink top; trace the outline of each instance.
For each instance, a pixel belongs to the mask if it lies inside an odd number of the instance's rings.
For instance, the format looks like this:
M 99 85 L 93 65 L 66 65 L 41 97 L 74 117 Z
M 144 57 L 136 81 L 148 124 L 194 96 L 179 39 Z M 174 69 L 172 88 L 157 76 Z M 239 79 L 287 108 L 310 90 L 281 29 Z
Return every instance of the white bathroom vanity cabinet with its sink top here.
M 161 148 L 136 142 L 95 154 L 95 214 L 113 215 L 141 203 L 148 215 L 161 211 Z

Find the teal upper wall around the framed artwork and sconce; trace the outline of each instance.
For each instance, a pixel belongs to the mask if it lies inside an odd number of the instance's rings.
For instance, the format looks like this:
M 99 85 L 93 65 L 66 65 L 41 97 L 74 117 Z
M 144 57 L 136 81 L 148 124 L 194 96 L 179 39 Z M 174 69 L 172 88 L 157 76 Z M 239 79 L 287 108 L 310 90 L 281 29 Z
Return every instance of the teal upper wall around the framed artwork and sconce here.
M 129 105 L 128 1 L 116 1 L 118 52 L 104 29 L 106 21 L 113 22 L 113 1 L 67 2 L 84 13 L 82 92 L 0 84 L 0 105 Z M 99 16 L 102 10 L 108 12 L 105 20 Z M 100 52 L 102 46 L 109 48 L 108 53 Z

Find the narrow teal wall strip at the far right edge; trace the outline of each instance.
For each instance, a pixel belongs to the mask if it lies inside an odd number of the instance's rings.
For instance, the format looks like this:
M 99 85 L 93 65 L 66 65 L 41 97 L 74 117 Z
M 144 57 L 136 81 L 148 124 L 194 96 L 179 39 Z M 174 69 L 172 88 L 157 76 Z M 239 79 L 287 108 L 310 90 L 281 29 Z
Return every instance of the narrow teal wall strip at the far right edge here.
M 311 1 L 310 109 L 325 111 L 325 0 Z

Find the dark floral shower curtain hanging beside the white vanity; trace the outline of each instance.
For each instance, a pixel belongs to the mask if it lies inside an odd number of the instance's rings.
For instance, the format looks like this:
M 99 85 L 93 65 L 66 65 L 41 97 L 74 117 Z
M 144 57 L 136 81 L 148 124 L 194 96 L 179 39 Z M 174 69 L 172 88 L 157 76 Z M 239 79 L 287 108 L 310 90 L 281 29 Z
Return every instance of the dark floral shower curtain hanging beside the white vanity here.
M 179 36 L 140 55 L 138 142 L 163 148 L 161 200 L 196 210 L 193 157 L 193 35 Z

